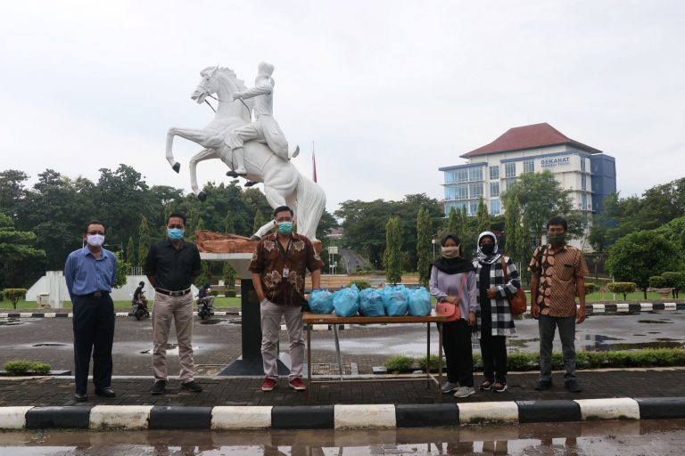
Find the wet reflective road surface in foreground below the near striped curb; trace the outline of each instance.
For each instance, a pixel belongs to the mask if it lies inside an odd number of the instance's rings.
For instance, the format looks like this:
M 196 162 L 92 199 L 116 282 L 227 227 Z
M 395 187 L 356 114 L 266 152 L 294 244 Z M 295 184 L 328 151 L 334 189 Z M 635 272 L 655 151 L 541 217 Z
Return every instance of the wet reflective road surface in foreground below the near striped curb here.
M 675 456 L 685 419 L 364 431 L 0 432 L 0 453 L 37 455 Z

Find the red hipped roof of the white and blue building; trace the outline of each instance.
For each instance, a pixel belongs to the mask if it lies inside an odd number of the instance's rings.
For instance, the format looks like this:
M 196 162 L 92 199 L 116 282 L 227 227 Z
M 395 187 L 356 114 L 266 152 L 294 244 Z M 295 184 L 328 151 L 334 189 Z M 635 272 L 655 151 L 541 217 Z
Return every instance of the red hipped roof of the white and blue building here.
M 516 126 L 509 128 L 505 134 L 502 134 L 495 141 L 479 147 L 474 151 L 466 152 L 460 157 L 462 159 L 471 159 L 482 155 L 490 155 L 492 153 L 507 152 L 507 151 L 521 151 L 524 149 L 534 149 L 545 146 L 556 146 L 559 144 L 569 144 L 582 151 L 590 153 L 603 153 L 582 142 L 574 141 L 565 134 L 559 132 L 555 127 L 550 126 L 547 122 L 542 124 L 533 124 L 526 126 Z

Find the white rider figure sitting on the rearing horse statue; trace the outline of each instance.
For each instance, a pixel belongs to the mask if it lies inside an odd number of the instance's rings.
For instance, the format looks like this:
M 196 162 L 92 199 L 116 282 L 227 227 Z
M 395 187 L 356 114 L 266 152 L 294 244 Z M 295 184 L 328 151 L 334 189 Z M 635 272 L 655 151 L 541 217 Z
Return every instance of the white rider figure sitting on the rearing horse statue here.
M 245 141 L 257 140 L 259 142 L 266 142 L 271 151 L 285 160 L 297 157 L 297 154 L 300 152 L 300 147 L 298 146 L 293 151 L 292 157 L 288 155 L 288 141 L 285 139 L 285 134 L 281 131 L 281 127 L 278 126 L 273 115 L 275 83 L 271 74 L 274 72 L 274 66 L 266 61 L 262 61 L 257 67 L 257 71 L 258 74 L 254 79 L 254 87 L 231 95 L 231 101 L 254 97 L 254 115 L 256 118 L 252 124 L 236 128 L 226 136 L 226 144 L 233 151 L 235 159 L 235 167 L 232 166 L 234 165 L 233 163 L 227 163 L 232 168 L 227 173 L 231 177 L 247 174 L 243 148 Z M 227 157 L 223 159 L 226 161 Z

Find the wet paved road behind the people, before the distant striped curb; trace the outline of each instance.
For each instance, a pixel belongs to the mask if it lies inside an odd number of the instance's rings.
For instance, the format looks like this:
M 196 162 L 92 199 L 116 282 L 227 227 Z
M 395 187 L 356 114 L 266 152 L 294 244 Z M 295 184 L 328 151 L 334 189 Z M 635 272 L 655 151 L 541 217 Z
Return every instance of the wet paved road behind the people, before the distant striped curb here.
M 194 350 L 199 373 L 213 374 L 241 354 L 239 317 L 220 317 L 209 324 L 195 319 Z M 577 349 L 626 349 L 644 346 L 683 346 L 685 311 L 656 311 L 635 314 L 594 314 L 578 326 Z M 510 352 L 538 350 L 537 322 L 516 322 L 518 333 L 508 338 Z M 172 330 L 173 331 L 173 330 Z M 425 355 L 425 325 L 367 325 L 341 330 L 345 362 L 356 362 L 359 373 L 371 373 L 395 354 Z M 433 354 L 437 330 L 432 330 Z M 175 342 L 172 332 L 169 342 Z M 116 322 L 113 347 L 115 375 L 150 375 L 153 330 L 150 320 L 137 322 L 120 317 Z M 285 331 L 281 346 L 287 346 Z M 49 362 L 55 370 L 73 366 L 73 334 L 68 318 L 24 318 L 0 320 L 0 365 L 12 359 L 27 358 Z M 559 350 L 558 340 L 555 349 Z M 334 338 L 330 330 L 312 333 L 313 359 L 334 362 Z M 177 373 L 177 352 L 169 347 L 169 374 Z

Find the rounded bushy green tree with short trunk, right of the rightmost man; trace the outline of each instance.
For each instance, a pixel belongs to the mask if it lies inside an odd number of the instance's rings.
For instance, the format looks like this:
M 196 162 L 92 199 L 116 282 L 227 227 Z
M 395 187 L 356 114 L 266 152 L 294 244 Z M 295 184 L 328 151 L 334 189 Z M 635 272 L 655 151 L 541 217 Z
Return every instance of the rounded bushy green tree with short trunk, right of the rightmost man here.
M 607 268 L 615 281 L 634 281 L 647 299 L 649 277 L 673 269 L 673 244 L 653 231 L 633 232 L 609 248 Z

